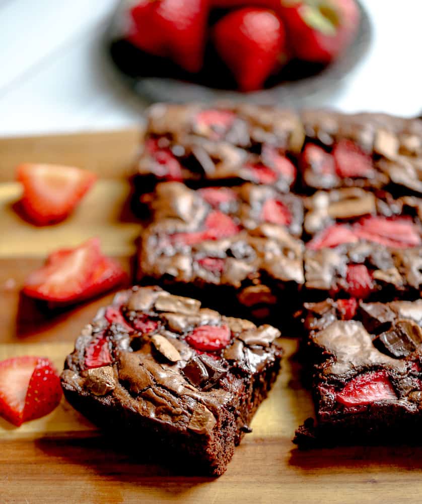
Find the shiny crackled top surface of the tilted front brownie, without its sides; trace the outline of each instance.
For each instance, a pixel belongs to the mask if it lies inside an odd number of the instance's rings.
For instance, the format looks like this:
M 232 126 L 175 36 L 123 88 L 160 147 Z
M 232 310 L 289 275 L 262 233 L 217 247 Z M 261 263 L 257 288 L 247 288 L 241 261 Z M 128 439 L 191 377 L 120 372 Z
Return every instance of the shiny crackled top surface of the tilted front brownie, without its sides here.
M 85 327 L 62 384 L 206 433 L 219 409 L 236 407 L 252 376 L 280 359 L 278 336 L 271 326 L 223 317 L 195 299 L 133 287 Z

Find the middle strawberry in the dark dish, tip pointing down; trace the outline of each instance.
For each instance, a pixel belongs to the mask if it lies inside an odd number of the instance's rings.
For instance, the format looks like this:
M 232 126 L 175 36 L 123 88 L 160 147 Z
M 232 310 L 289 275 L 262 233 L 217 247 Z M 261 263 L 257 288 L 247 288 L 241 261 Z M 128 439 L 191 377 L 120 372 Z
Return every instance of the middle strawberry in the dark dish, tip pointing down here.
M 241 91 L 263 87 L 285 51 L 285 31 L 269 10 L 247 7 L 224 16 L 214 27 L 214 43 Z

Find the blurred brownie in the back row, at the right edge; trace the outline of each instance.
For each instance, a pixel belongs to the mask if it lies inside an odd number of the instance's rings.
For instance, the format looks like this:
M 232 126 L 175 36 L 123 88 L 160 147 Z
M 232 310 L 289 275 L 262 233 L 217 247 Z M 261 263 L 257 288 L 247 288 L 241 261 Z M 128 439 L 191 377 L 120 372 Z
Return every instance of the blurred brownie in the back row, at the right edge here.
M 385 187 L 422 193 L 422 121 L 305 110 L 300 157 L 306 188 Z

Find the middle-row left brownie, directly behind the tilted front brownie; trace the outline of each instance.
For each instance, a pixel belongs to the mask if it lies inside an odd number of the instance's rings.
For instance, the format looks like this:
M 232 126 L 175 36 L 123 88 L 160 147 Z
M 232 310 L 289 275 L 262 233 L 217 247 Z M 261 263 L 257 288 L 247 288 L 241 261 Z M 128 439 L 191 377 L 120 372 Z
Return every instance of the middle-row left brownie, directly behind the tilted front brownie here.
M 217 208 L 209 203 L 221 201 L 216 195 L 226 197 L 227 191 L 233 195 L 230 208 L 227 202 Z M 236 191 L 193 191 L 164 182 L 153 207 L 153 222 L 140 240 L 142 284 L 158 283 L 174 293 L 200 296 L 225 313 L 277 325 L 283 312 L 297 309 L 304 281 L 303 242 L 294 236 L 302 232 L 298 197 L 249 183 Z M 271 222 L 283 219 L 285 226 Z

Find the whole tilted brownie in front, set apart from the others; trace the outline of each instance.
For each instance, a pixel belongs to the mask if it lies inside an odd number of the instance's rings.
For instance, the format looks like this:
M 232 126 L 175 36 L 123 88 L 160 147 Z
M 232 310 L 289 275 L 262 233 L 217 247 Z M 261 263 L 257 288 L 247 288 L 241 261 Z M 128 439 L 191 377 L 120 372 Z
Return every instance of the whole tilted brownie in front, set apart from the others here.
M 278 336 L 195 299 L 133 287 L 82 330 L 61 385 L 77 410 L 131 447 L 220 475 L 277 376 Z

